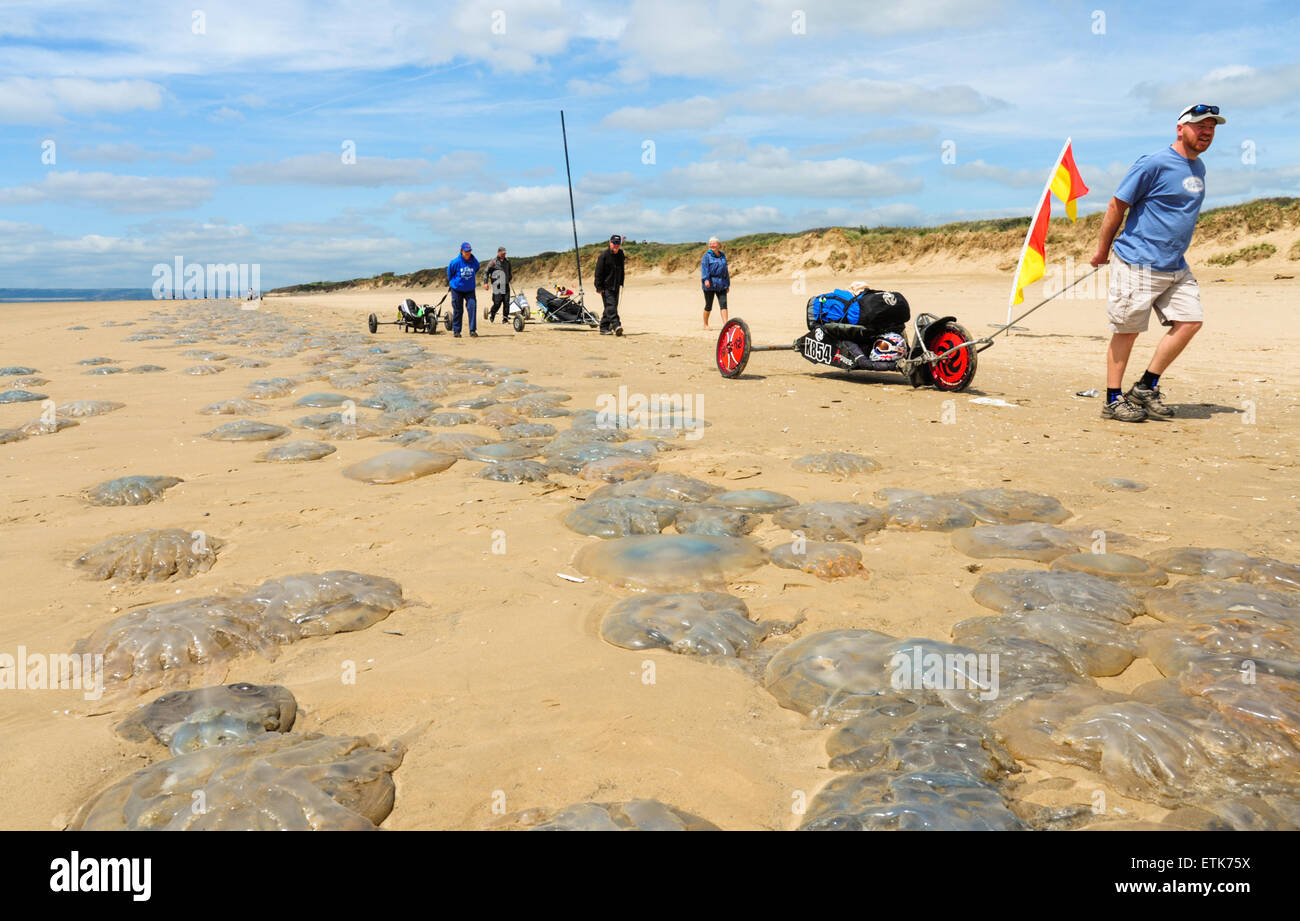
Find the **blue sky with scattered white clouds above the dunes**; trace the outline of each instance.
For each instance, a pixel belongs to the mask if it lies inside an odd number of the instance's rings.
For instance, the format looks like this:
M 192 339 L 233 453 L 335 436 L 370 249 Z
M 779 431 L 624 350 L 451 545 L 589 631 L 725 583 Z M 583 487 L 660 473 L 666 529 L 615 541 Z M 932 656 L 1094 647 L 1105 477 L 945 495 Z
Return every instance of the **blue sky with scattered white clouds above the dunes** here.
M 1297 26 L 1249 1 L 0 1 L 0 286 L 563 250 L 562 108 L 584 243 L 1027 216 L 1066 137 L 1087 213 L 1197 101 L 1228 118 L 1206 207 L 1300 195 Z

